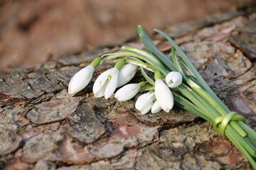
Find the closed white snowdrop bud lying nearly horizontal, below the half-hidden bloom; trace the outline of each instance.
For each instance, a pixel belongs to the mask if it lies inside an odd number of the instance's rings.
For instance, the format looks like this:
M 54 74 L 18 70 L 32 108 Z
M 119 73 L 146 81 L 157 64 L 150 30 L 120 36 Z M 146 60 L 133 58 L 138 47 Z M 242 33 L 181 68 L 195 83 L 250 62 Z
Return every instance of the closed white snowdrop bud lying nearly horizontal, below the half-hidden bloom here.
M 139 84 L 127 84 L 116 92 L 114 98 L 117 98 L 118 101 L 128 101 L 139 92 L 140 88 Z

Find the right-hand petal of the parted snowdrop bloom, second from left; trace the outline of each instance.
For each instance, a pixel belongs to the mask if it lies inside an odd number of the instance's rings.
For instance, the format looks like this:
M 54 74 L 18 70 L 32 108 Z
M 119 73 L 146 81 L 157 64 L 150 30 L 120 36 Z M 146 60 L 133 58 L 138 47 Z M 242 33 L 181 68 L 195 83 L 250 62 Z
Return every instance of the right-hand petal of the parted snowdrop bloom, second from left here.
M 112 71 L 110 73 L 110 76 L 112 77 L 110 79 L 109 84 L 107 84 L 107 88 L 105 90 L 105 98 L 110 98 L 112 94 L 114 94 L 115 89 L 117 89 L 117 81 L 118 81 L 118 74 L 119 70 L 117 68 L 112 68 Z

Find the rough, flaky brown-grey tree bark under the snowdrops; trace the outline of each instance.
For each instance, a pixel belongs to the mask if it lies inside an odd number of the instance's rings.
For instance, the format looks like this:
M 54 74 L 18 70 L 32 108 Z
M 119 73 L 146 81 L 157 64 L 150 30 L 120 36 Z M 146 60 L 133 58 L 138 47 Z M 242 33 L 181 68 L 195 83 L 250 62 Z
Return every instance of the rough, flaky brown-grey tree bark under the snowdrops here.
M 166 28 L 216 94 L 256 128 L 256 13 L 232 11 Z M 250 35 L 250 36 L 245 36 Z M 253 36 L 251 36 L 253 35 Z M 152 35 L 157 47 L 171 46 Z M 139 40 L 123 45 L 143 47 Z M 212 125 L 175 107 L 141 115 L 134 101 L 95 98 L 92 82 L 68 95 L 75 72 L 102 47 L 14 71 L 0 79 L 1 169 L 252 169 Z M 134 81 L 141 80 L 137 74 Z

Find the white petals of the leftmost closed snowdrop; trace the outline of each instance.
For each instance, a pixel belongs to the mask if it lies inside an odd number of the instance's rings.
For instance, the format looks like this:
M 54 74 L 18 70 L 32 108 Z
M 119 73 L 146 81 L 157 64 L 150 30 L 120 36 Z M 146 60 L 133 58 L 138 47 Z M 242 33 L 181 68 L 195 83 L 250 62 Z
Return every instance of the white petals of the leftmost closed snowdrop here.
M 90 83 L 93 72 L 94 67 L 92 67 L 91 65 L 88 65 L 87 67 L 77 72 L 68 84 L 68 93 L 76 94 L 82 89 L 84 89 L 85 86 L 87 86 Z

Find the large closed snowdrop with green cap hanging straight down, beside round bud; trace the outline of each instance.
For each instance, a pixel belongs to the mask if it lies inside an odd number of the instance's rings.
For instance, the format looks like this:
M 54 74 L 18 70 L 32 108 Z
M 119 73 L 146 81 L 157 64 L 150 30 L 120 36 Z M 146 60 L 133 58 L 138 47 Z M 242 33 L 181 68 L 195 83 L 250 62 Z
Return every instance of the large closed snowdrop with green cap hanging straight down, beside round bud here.
M 169 112 L 174 107 L 174 96 L 169 87 L 161 80 L 160 72 L 155 73 L 155 94 L 156 100 L 165 112 Z

